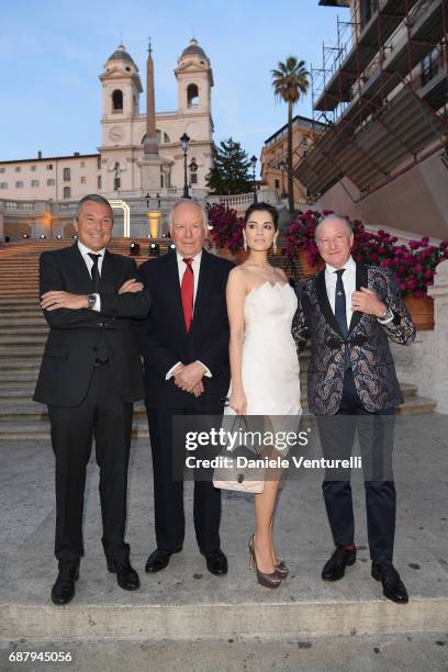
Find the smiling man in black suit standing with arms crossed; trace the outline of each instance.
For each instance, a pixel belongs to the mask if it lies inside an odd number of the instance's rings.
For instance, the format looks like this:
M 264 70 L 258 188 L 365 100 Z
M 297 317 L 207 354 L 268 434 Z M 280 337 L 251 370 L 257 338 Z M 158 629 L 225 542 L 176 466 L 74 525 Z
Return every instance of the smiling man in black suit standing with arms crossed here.
M 71 247 L 41 255 L 41 305 L 51 331 L 34 401 L 48 405 L 56 457 L 56 605 L 70 602 L 83 555 L 82 511 L 92 437 L 100 467 L 102 544 L 110 572 L 125 590 L 139 586 L 124 541 L 133 402 L 143 399 L 133 317 L 149 310 L 133 259 L 113 255 L 113 212 L 85 197 Z

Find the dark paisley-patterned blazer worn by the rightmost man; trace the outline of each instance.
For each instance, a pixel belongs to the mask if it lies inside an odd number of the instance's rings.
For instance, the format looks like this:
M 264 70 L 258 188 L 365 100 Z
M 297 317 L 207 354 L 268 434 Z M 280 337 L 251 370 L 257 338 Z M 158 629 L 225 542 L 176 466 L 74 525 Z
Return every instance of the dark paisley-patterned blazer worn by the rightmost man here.
M 334 415 L 339 410 L 348 348 L 354 381 L 366 411 L 380 412 L 403 403 L 389 339 L 411 344 L 415 327 L 400 298 L 393 276 L 387 269 L 357 264 L 356 288 L 367 287 L 392 310 L 393 321 L 380 324 L 366 313 L 352 314 L 344 338 L 332 311 L 325 285 L 325 270 L 298 287 L 299 306 L 292 324 L 298 350 L 311 338 L 307 369 L 310 411 Z

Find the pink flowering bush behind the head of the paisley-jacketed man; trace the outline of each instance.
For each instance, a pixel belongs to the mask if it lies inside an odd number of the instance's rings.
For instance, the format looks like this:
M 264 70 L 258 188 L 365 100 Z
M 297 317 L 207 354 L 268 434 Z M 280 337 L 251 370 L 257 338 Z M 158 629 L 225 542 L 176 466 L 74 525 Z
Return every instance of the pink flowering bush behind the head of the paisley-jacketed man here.
M 307 260 L 315 266 L 320 259 L 318 249 L 314 242 L 314 231 L 318 222 L 328 211 L 322 214 L 309 210 L 299 215 L 285 233 L 285 256 L 293 259 L 300 249 L 307 253 Z M 354 245 L 351 254 L 357 261 L 382 266 L 395 276 L 403 293 L 423 298 L 434 282 L 436 267 L 444 259 L 448 259 L 448 239 L 438 246 L 429 245 L 429 238 L 424 236 L 421 240 L 410 240 L 407 245 L 397 245 L 396 236 L 380 229 L 366 231 L 358 220 L 351 223 L 354 227 Z

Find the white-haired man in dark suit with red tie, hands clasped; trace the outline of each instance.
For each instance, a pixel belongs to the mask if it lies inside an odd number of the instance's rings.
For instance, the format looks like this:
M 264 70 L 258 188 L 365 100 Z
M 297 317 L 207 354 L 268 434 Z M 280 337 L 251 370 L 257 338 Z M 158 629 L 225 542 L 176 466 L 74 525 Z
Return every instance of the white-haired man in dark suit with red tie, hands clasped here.
M 165 569 L 184 537 L 183 482 L 173 478 L 184 446 L 173 445 L 176 415 L 220 415 L 229 382 L 228 322 L 225 303 L 233 265 L 206 253 L 206 216 L 191 201 L 170 213 L 176 251 L 147 261 L 138 278 L 150 290 L 149 316 L 139 324 L 145 361 L 145 404 L 153 452 L 157 549 L 147 572 Z M 180 460 L 181 461 L 181 460 Z M 220 542 L 221 491 L 210 480 L 194 482 L 194 528 L 206 567 L 227 572 Z

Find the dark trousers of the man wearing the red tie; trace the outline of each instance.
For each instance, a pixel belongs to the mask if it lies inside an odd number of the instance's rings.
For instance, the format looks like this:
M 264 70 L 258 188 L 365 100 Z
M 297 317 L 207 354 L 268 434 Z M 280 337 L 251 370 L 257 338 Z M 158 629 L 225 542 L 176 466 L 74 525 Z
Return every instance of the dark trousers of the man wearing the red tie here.
M 157 548 L 176 551 L 182 548 L 186 517 L 182 473 L 184 441 L 173 440 L 175 415 L 194 415 L 194 407 L 160 410 L 146 407 L 148 415 L 154 475 L 154 514 Z M 215 414 L 221 414 L 216 408 Z M 197 474 L 194 474 L 197 475 Z M 203 475 L 201 477 L 203 478 Z M 193 519 L 197 541 L 203 553 L 217 550 L 220 541 L 221 491 L 208 480 L 194 480 Z

